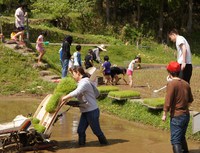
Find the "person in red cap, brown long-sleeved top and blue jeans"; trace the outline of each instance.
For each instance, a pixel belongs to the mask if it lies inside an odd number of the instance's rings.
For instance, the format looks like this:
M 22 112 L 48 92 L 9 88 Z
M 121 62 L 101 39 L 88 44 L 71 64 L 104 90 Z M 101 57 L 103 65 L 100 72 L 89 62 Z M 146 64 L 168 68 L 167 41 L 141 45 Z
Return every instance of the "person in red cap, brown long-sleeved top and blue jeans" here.
M 193 95 L 188 82 L 179 78 L 181 66 L 178 62 L 170 62 L 167 71 L 171 81 L 167 83 L 162 120 L 166 121 L 170 112 L 171 144 L 174 153 L 189 153 L 185 134 L 190 120 L 189 105 Z

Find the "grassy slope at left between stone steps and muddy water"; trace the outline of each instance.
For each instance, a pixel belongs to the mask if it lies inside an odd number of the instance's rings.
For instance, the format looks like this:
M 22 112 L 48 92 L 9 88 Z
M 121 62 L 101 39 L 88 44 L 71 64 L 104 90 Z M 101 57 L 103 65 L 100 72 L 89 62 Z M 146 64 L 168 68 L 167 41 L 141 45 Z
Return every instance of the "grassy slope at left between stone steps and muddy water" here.
M 34 57 L 24 56 L 0 44 L 0 93 L 11 95 L 51 93 L 55 84 L 40 79 L 38 70 L 33 68 Z

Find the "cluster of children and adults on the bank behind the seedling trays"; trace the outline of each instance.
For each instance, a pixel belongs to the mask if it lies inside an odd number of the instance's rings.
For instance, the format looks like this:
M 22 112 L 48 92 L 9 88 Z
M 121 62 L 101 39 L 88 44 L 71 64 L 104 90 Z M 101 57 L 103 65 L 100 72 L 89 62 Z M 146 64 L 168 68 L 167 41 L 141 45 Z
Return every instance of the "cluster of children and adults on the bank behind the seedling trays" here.
M 59 50 L 60 53 L 60 61 L 62 65 L 62 78 L 67 76 L 68 71 L 72 73 L 72 69 L 74 67 L 82 66 L 85 69 L 89 69 L 94 67 L 94 62 L 100 65 L 102 69 L 102 73 L 105 79 L 105 84 L 116 85 L 118 81 L 121 79 L 118 75 L 122 74 L 122 79 L 127 84 L 125 79 L 125 75 L 128 75 L 129 85 L 133 87 L 133 70 L 135 67 L 135 63 L 141 62 L 141 57 L 136 56 L 134 60 L 130 62 L 128 68 L 126 67 L 118 67 L 116 65 L 111 65 L 109 61 L 109 56 L 105 55 L 103 57 L 103 61 L 100 57 L 100 52 L 107 51 L 103 44 L 97 46 L 94 49 L 89 49 L 86 54 L 84 61 L 81 60 L 81 45 L 76 46 L 76 51 L 71 55 L 70 46 L 72 42 L 71 36 L 66 36 L 64 39 L 62 46 Z M 67 46 L 67 47 L 66 47 Z M 84 63 L 84 64 L 82 64 Z

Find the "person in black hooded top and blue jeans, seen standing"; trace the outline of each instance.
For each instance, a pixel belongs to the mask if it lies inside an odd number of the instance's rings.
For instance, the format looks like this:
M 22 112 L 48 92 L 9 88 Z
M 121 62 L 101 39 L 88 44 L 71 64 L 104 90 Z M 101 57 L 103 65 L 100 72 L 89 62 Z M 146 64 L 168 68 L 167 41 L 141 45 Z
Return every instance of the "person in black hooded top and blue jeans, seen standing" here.
M 67 35 L 62 44 L 62 78 L 67 76 L 69 60 L 71 58 L 70 46 L 72 44 L 72 36 Z

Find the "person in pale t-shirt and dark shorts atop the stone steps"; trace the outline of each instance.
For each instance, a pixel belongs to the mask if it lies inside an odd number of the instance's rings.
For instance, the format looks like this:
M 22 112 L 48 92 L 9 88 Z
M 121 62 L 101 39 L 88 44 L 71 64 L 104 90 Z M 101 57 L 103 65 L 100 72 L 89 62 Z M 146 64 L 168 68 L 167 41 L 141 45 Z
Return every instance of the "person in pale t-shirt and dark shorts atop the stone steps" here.
M 21 4 L 19 8 L 15 11 L 15 27 L 17 28 L 18 32 L 12 37 L 12 39 L 17 40 L 17 37 L 19 37 L 20 41 L 24 41 L 24 21 L 25 16 L 27 15 L 27 12 L 24 13 L 25 5 Z

